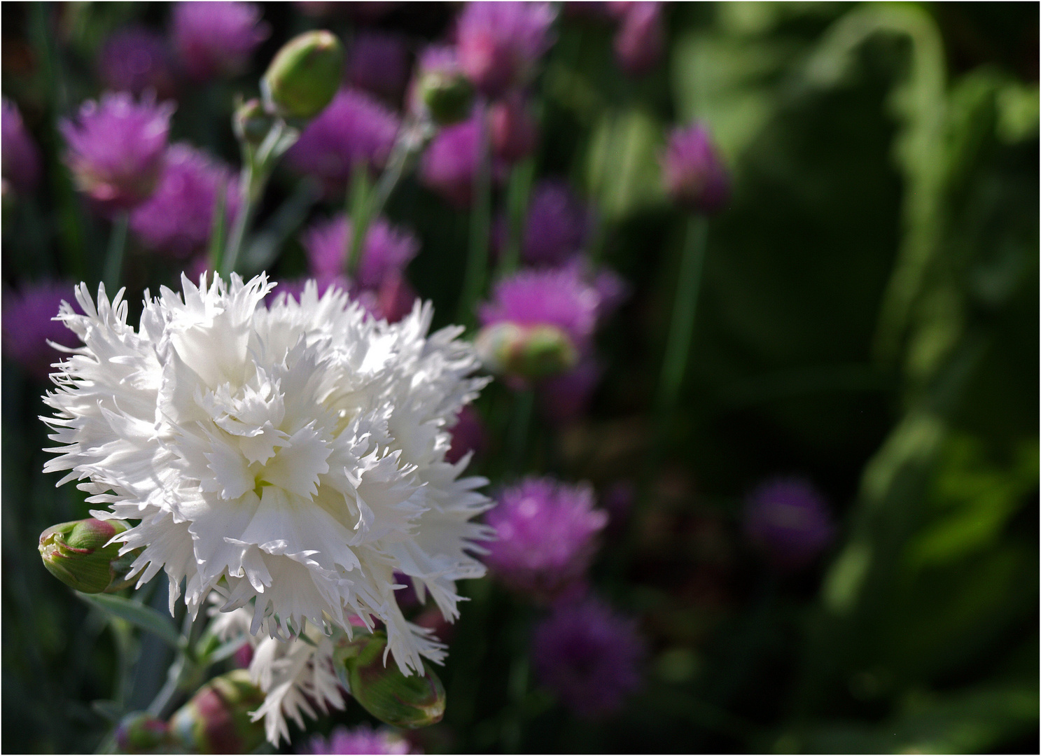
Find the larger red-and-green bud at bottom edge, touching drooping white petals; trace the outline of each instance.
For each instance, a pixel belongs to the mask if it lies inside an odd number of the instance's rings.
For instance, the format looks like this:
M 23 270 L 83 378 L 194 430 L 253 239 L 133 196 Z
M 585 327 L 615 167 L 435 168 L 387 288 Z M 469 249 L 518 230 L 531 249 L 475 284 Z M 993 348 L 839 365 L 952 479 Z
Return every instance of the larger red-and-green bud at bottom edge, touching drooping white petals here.
M 170 717 L 171 734 L 195 753 L 250 753 L 264 739 L 250 717 L 263 698 L 246 670 L 214 677 Z

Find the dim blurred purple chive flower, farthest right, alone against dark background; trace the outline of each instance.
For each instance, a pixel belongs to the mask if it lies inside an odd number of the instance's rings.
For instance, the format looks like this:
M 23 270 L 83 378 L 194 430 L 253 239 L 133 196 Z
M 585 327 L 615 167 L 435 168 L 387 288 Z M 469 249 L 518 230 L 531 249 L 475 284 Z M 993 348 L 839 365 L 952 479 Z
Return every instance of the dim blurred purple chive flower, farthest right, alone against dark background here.
M 835 526 L 828 504 L 811 483 L 777 478 L 748 497 L 744 532 L 777 566 L 797 570 L 828 547 Z

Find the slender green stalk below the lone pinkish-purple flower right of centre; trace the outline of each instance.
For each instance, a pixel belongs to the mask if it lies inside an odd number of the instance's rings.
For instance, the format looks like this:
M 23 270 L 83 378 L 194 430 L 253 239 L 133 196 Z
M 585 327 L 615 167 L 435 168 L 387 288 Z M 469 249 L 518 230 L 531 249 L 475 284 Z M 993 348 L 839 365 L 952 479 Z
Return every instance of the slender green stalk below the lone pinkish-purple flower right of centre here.
M 661 366 L 661 380 L 658 384 L 658 423 L 663 426 L 671 417 L 679 398 L 683 374 L 687 369 L 690 354 L 690 338 L 694 332 L 694 316 L 697 311 L 697 295 L 702 285 L 702 269 L 705 266 L 705 249 L 708 238 L 708 220 L 695 215 L 687 223 L 687 237 L 683 246 L 680 262 L 680 280 L 676 288 L 672 318 L 668 326 L 668 341 L 665 357 Z M 663 427 L 658 430 L 659 434 Z

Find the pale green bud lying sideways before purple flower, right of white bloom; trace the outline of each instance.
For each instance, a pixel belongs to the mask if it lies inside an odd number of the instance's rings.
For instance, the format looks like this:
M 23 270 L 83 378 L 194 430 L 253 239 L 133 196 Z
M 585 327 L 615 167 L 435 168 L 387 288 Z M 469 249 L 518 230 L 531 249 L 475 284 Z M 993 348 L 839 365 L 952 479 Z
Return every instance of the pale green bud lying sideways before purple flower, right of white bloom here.
M 492 373 L 526 380 L 559 375 L 579 360 L 578 350 L 567 334 L 547 324 L 494 323 L 481 329 L 474 346 L 484 367 Z

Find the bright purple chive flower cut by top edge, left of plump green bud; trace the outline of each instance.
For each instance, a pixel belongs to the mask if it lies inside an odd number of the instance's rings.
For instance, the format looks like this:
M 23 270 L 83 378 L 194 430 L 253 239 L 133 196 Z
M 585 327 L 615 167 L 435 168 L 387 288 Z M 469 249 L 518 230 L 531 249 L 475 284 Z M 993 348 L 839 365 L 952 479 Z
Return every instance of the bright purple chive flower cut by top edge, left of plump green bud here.
M 271 33 L 253 3 L 180 2 L 173 14 L 174 47 L 197 81 L 240 74 Z

